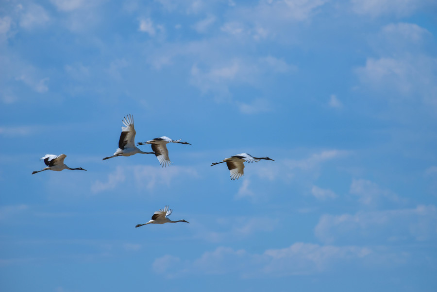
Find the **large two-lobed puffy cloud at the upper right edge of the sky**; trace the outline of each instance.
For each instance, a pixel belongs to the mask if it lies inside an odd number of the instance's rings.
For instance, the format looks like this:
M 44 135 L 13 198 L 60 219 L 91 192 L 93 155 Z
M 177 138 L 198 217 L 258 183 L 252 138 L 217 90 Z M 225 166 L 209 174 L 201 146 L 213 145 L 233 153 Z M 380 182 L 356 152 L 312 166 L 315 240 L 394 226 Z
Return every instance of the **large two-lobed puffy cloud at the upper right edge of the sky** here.
M 355 72 L 366 89 L 390 101 L 437 105 L 437 58 L 425 46 L 432 41 L 433 35 L 417 24 L 388 24 L 370 39 L 379 57 L 367 58 Z

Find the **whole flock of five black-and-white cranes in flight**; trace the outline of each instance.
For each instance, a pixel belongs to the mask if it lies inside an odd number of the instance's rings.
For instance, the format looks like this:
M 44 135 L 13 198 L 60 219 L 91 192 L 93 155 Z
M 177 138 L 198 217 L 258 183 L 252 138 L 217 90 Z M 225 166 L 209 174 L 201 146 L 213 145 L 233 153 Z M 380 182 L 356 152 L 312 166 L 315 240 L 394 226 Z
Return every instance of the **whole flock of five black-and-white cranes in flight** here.
M 159 138 L 154 138 L 152 140 L 146 141 L 146 142 L 139 142 L 136 144 L 136 146 L 145 145 L 145 144 L 151 144 L 151 149 L 153 152 L 144 152 L 141 151 L 138 147 L 135 146 L 135 128 L 134 128 L 134 117 L 132 115 L 127 115 L 122 120 L 124 127 L 121 127 L 121 135 L 120 139 L 118 140 L 118 149 L 112 156 L 104 157 L 102 160 L 106 160 L 109 158 L 117 157 L 117 156 L 131 156 L 137 153 L 141 154 L 154 154 L 156 155 L 156 158 L 158 158 L 159 164 L 162 167 L 167 167 L 167 165 L 171 164 L 170 158 L 168 157 L 168 149 L 167 144 L 168 143 L 179 143 L 179 144 L 188 144 L 191 145 L 188 142 L 181 142 L 181 139 L 179 140 L 173 140 L 169 137 L 163 136 Z M 44 169 L 40 171 L 34 171 L 32 174 L 35 174 L 37 172 L 43 172 L 43 171 L 57 171 L 60 172 L 62 170 L 68 169 L 68 170 L 81 170 L 86 171 L 85 169 L 79 167 L 79 168 L 69 168 L 66 164 L 64 164 L 64 159 L 67 157 L 65 154 L 61 155 L 52 155 L 52 154 L 46 154 L 44 157 L 41 157 L 41 159 L 44 159 L 44 163 L 47 165 Z M 40 160 L 41 160 L 40 159 Z M 237 155 L 233 155 L 231 157 L 225 158 L 220 162 L 214 162 L 211 164 L 211 166 L 220 164 L 223 162 L 226 162 L 226 165 L 228 166 L 229 171 L 231 172 L 231 180 L 235 180 L 240 178 L 244 172 L 244 162 L 252 163 L 253 161 L 258 162 L 261 159 L 264 160 L 272 160 L 273 159 L 269 157 L 253 157 L 252 155 L 249 155 L 247 153 L 241 153 Z M 147 224 L 164 224 L 164 223 L 176 223 L 176 222 L 186 222 L 185 220 L 178 220 L 178 221 L 171 221 L 168 216 L 171 214 L 172 209 L 169 209 L 168 206 L 165 206 L 164 209 L 159 209 L 156 211 L 153 216 L 151 217 L 151 220 L 144 224 L 137 224 L 135 227 L 147 225 Z

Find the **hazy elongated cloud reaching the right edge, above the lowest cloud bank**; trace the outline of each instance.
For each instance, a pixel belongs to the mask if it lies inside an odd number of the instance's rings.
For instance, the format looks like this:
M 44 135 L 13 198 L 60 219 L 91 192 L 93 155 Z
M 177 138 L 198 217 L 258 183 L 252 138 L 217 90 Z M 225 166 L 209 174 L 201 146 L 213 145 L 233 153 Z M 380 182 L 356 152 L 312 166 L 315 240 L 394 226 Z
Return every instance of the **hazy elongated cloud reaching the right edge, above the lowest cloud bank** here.
M 419 205 L 414 209 L 360 211 L 354 215 L 323 215 L 315 235 L 326 243 L 341 241 L 386 244 L 403 240 L 436 240 L 437 208 Z

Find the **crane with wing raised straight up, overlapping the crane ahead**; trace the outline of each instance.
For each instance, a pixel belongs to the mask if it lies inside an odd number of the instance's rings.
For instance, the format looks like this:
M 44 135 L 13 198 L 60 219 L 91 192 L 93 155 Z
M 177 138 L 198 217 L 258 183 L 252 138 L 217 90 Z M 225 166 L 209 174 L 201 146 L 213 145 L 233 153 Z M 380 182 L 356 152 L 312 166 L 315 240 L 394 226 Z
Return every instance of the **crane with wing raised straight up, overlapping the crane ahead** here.
M 114 155 L 105 157 L 102 160 L 109 159 L 116 156 L 131 156 L 137 153 L 143 154 L 154 154 L 153 152 L 143 152 L 135 146 L 135 128 L 134 128 L 134 117 L 132 115 L 127 115 L 121 120 L 125 127 L 121 127 L 120 140 L 118 140 L 118 149 Z

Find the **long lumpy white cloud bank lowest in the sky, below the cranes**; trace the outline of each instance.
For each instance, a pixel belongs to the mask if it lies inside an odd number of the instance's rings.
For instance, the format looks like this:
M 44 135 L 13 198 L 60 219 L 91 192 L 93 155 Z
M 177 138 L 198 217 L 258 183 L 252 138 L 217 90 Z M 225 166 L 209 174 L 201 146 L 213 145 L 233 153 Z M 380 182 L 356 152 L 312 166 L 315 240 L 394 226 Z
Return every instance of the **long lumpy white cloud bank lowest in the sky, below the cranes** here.
M 244 249 L 235 250 L 220 246 L 204 252 L 199 258 L 183 260 L 166 255 L 157 258 L 153 267 L 167 277 L 193 275 L 233 274 L 245 278 L 260 275 L 283 277 L 317 274 L 333 266 L 365 262 L 375 254 L 370 248 L 358 246 L 320 246 L 296 242 L 281 249 L 268 249 L 262 254 L 250 254 Z

